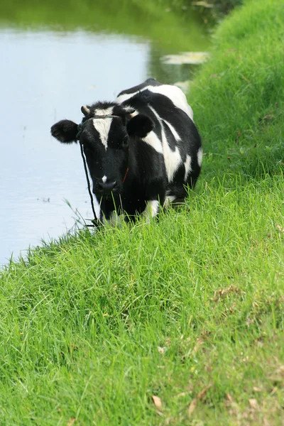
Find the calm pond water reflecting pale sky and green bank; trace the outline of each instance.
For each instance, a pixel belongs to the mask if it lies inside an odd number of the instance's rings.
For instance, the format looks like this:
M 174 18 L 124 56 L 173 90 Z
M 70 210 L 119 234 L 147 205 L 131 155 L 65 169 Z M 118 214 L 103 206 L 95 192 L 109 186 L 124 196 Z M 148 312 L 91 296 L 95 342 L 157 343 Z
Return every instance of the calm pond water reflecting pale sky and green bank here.
M 130 0 L 119 2 L 122 9 L 109 1 L 107 11 L 104 2 L 78 4 L 0 6 L 0 264 L 72 229 L 75 214 L 65 200 L 92 218 L 80 148 L 55 141 L 50 126 L 79 122 L 82 104 L 112 100 L 148 77 L 187 80 L 192 67 L 160 58 L 208 47 L 190 13 L 144 11 Z

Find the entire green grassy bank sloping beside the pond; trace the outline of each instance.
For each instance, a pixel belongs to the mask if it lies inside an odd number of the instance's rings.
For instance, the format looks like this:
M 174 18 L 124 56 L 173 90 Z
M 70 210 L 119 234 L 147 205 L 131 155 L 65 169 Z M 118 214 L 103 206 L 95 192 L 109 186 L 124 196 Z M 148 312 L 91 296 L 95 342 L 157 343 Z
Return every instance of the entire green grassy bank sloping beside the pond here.
M 283 425 L 283 14 L 219 27 L 185 207 L 1 273 L 0 425 Z

